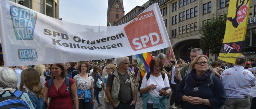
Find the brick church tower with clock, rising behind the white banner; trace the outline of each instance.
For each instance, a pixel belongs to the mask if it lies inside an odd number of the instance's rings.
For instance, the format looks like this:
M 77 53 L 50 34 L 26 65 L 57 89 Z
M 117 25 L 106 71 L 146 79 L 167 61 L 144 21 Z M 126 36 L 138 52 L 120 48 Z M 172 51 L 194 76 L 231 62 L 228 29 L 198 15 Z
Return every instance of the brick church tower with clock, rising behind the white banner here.
M 125 15 L 123 0 L 108 0 L 107 26 L 113 26 L 116 21 Z M 110 25 L 109 25 L 110 23 Z

